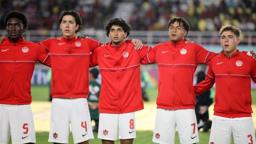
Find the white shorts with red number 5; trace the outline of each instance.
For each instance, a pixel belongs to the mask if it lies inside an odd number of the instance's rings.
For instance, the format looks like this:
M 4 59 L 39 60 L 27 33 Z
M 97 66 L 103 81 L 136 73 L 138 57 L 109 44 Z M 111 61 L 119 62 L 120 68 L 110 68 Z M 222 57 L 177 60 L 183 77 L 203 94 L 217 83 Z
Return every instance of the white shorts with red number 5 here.
M 35 143 L 35 126 L 30 105 L 0 106 L 0 144 Z

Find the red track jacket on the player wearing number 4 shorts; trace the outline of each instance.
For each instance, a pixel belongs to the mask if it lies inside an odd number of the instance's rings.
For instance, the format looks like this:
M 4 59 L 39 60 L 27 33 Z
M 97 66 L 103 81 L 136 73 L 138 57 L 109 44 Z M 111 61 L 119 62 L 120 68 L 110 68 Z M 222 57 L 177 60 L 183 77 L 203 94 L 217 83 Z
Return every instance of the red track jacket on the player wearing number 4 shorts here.
M 101 43 L 74 36 L 40 43 L 51 54 L 52 98 L 87 98 L 89 94 L 90 52 Z

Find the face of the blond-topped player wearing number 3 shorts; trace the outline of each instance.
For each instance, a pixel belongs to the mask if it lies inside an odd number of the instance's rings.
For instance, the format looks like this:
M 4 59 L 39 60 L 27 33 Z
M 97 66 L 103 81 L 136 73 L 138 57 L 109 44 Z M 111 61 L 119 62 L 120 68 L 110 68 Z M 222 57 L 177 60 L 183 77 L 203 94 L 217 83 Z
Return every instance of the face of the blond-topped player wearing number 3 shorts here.
M 237 51 L 236 47 L 239 44 L 240 39 L 231 31 L 224 31 L 221 34 L 221 46 L 225 54 L 233 54 Z M 231 56 L 228 55 L 228 56 Z

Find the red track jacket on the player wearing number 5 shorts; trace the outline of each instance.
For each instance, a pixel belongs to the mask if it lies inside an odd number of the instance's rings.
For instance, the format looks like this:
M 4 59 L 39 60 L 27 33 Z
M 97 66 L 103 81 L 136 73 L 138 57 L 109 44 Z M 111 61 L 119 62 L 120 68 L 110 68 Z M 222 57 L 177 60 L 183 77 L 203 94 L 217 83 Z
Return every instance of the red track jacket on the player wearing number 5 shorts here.
M 0 104 L 30 104 L 35 63 L 50 66 L 49 53 L 23 38 L 15 43 L 4 38 L 0 50 Z

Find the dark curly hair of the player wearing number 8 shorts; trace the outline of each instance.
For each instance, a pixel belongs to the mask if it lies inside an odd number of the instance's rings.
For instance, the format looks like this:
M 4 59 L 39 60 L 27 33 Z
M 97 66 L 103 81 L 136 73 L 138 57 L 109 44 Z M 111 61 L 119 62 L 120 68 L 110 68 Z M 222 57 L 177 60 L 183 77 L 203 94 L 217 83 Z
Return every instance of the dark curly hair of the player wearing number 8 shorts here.
M 125 22 L 122 18 L 110 18 L 110 21 L 105 25 L 106 35 L 110 33 L 112 25 L 118 25 L 123 28 L 124 32 L 127 32 L 127 37 L 130 35 L 131 25 L 129 22 Z

